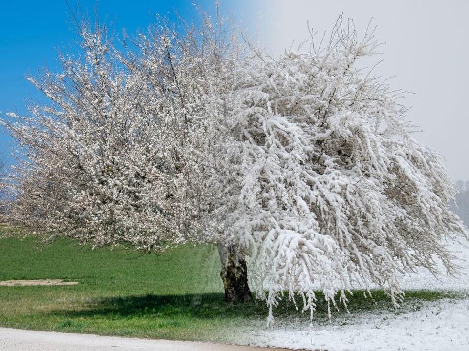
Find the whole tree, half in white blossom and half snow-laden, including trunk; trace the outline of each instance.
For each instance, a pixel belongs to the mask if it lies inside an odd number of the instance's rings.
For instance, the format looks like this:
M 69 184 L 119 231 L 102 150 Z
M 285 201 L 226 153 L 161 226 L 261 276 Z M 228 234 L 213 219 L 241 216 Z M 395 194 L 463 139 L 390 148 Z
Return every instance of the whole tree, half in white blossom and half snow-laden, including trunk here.
M 403 274 L 438 273 L 435 257 L 455 273 L 440 240 L 468 237 L 455 189 L 400 93 L 357 67 L 373 32 L 340 19 L 324 48 L 274 61 L 204 20 L 122 50 L 83 26 L 83 56 L 31 78 L 49 103 L 4 122 L 26 156 L 12 219 L 99 246 L 211 242 L 226 300 L 251 298 L 249 270 L 269 321 L 285 291 L 312 317 L 316 289 L 337 306 L 377 285 L 397 304 Z

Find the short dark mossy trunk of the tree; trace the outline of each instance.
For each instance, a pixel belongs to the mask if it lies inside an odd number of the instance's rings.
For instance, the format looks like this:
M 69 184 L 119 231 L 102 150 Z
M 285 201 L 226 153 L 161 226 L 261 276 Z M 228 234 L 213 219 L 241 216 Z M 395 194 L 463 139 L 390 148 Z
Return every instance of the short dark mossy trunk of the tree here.
M 248 269 L 246 259 L 235 246 L 218 244 L 221 260 L 221 279 L 225 288 L 226 303 L 242 303 L 251 301 L 253 295 L 248 285 Z

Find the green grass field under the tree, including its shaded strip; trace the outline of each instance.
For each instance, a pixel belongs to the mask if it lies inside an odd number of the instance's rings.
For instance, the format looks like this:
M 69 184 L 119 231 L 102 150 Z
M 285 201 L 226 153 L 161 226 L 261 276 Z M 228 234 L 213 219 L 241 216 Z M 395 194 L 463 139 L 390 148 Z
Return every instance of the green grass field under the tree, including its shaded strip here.
M 42 247 L 34 237 L 0 239 L 0 281 L 64 279 L 71 286 L 0 286 L 0 326 L 178 340 L 233 341 L 246 320 L 265 320 L 262 301 L 224 303 L 219 258 L 210 245 L 183 245 L 163 254 L 90 250 L 62 239 Z M 319 294 L 320 295 L 320 294 Z M 447 297 L 407 292 L 402 309 Z M 349 311 L 393 309 L 382 292 L 355 292 Z M 403 312 L 396 311 L 396 313 Z M 344 311 L 339 312 L 345 313 Z M 292 304 L 275 312 L 297 318 Z M 336 313 L 337 315 L 338 313 Z M 327 320 L 319 299 L 316 318 Z M 307 316 L 304 316 L 307 323 Z M 242 328 L 241 328 L 242 329 Z

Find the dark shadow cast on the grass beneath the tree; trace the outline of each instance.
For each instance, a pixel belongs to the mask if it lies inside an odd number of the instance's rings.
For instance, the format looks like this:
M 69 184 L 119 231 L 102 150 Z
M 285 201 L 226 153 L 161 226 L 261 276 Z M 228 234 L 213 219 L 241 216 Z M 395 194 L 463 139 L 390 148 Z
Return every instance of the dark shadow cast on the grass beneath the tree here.
M 432 301 L 445 297 L 455 297 L 454 294 L 445 292 L 407 292 L 405 305 L 409 303 L 414 305 L 421 304 L 424 301 Z M 315 318 L 328 319 L 328 304 L 321 292 L 316 293 L 317 303 Z M 301 310 L 302 299 L 296 298 L 298 309 Z M 407 303 L 406 303 L 407 302 Z M 404 310 L 407 310 L 404 307 Z M 394 311 L 395 308 L 386 294 L 381 291 L 373 291 L 372 296 L 363 291 L 355 291 L 351 296 L 347 309 L 338 306 L 336 310 L 331 306 L 333 314 L 340 316 L 348 312 L 366 312 L 366 311 Z M 412 307 L 413 310 L 415 307 Z M 401 312 L 404 310 L 401 309 Z M 335 312 L 334 312 L 335 311 Z M 396 310 L 396 312 L 398 312 Z M 274 314 L 280 318 L 289 318 L 298 316 L 295 304 L 289 301 L 285 296 L 283 301 L 274 311 Z M 264 319 L 268 314 L 268 308 L 264 301 L 256 300 L 238 304 L 229 305 L 224 302 L 223 293 L 204 293 L 204 294 L 186 294 L 186 295 L 141 295 L 125 297 L 97 298 L 87 301 L 80 310 L 55 310 L 48 313 L 54 316 L 66 317 L 189 317 L 200 319 L 214 318 L 261 318 Z M 305 313 L 309 315 L 309 313 Z

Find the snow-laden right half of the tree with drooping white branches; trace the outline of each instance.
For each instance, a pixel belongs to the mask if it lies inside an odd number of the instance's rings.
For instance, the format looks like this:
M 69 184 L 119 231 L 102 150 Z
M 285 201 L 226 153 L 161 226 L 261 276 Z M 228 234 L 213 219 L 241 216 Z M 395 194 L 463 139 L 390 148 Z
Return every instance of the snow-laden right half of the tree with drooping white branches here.
M 436 274 L 438 257 L 455 272 L 441 241 L 467 237 L 448 205 L 455 189 L 440 156 L 411 137 L 400 92 L 360 68 L 377 45 L 339 20 L 324 48 L 261 60 L 240 83 L 230 144 L 241 190 L 228 205 L 270 318 L 285 291 L 312 315 L 315 289 L 336 304 L 378 286 L 397 303 L 416 267 Z

